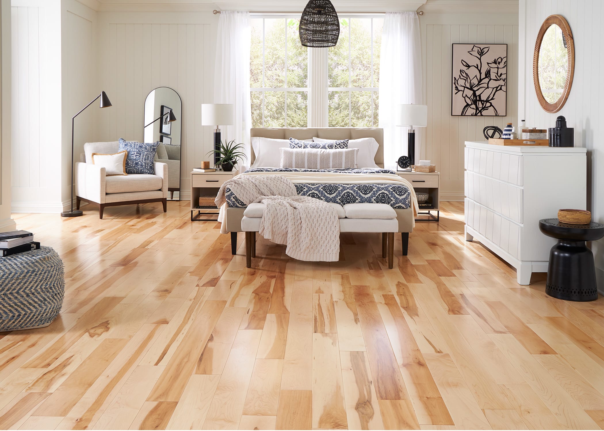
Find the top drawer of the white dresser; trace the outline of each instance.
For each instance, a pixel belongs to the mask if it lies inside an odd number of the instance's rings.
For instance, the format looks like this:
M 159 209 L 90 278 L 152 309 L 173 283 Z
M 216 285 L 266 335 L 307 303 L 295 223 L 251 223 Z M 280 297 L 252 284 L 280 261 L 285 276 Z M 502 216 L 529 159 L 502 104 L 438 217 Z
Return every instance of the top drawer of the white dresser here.
M 511 184 L 521 186 L 524 182 L 522 156 L 515 154 L 466 147 L 464 167 L 469 171 Z

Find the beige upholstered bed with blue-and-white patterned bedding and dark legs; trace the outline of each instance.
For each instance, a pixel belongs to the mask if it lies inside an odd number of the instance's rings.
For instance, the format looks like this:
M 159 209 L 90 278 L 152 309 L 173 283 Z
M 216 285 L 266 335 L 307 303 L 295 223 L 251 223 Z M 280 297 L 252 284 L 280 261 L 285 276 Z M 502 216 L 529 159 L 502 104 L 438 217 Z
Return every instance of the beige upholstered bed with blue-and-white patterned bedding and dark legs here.
M 275 167 L 271 169 L 263 169 L 258 170 L 258 168 L 253 168 L 249 170 L 251 173 L 274 173 L 274 174 L 284 174 L 285 176 L 292 179 L 292 182 L 296 185 L 298 190 L 298 194 L 302 194 L 304 196 L 312 196 L 321 200 L 328 200 L 328 202 L 337 202 L 337 203 L 346 203 L 346 199 L 350 199 L 350 196 L 356 196 L 357 199 L 364 199 L 367 197 L 365 202 L 382 202 L 384 200 L 384 196 L 389 196 L 385 198 L 386 200 L 391 199 L 388 202 L 396 211 L 397 214 L 397 222 L 399 225 L 398 232 L 401 234 L 402 238 L 402 252 L 403 255 L 407 254 L 407 247 L 409 241 L 409 234 L 413 231 L 415 226 L 415 217 L 413 210 L 413 198 L 411 197 L 411 191 L 408 191 L 408 194 L 405 197 L 405 193 L 401 193 L 400 190 L 393 191 L 392 188 L 394 185 L 390 185 L 390 187 L 379 187 L 379 184 L 371 184 L 371 187 L 375 187 L 376 189 L 381 190 L 371 190 L 371 193 L 367 193 L 367 189 L 353 191 L 354 187 L 363 187 L 362 180 L 358 180 L 359 177 L 362 176 L 380 176 L 381 174 L 391 172 L 390 170 L 384 170 L 384 131 L 382 129 L 377 128 L 354 128 L 354 127 L 329 127 L 329 128 L 254 128 L 250 130 L 250 134 L 252 138 L 260 137 L 260 138 L 272 138 L 272 139 L 288 139 L 288 138 L 296 138 L 296 139 L 306 139 L 312 141 L 313 137 L 323 138 L 323 139 L 359 139 L 359 138 L 374 138 L 377 141 L 379 147 L 377 148 L 377 152 L 374 156 L 374 162 L 377 167 L 372 168 L 369 171 L 350 171 L 345 173 L 347 176 L 350 176 L 350 180 L 344 180 L 341 177 L 344 175 L 334 174 L 334 176 L 338 176 L 338 180 L 334 180 L 333 183 L 329 184 L 326 178 L 321 178 L 322 181 L 315 181 L 316 176 L 321 175 L 315 173 L 313 171 L 307 170 L 281 170 Z M 256 156 L 254 154 L 254 149 L 251 150 L 251 165 L 254 164 Z M 328 174 L 324 174 L 322 176 L 328 176 Z M 388 181 L 385 181 L 387 183 Z M 360 184 L 359 184 L 360 183 Z M 324 187 L 328 185 L 330 187 Z M 333 188 L 331 187 L 333 186 Z M 326 193 L 324 189 L 328 188 L 329 193 Z M 337 188 L 338 190 L 334 190 Z M 323 191 L 322 191 L 323 190 Z M 411 190 L 413 190 L 411 188 Z M 381 194 L 380 194 L 381 193 Z M 228 191 L 227 191 L 228 195 Z M 342 198 L 344 196 L 344 198 Z M 348 196 L 348 198 L 346 197 Z M 245 211 L 245 207 L 242 205 L 238 205 L 236 199 L 233 199 L 233 196 L 228 196 L 228 205 L 226 207 L 225 214 L 223 216 L 223 225 L 222 232 L 230 232 L 231 233 L 231 251 L 233 254 L 236 254 L 237 249 L 237 232 L 242 232 L 241 228 L 241 220 L 243 218 L 243 211 Z M 396 200 L 400 198 L 399 200 Z M 332 199 L 332 200 L 330 200 Z M 338 202 L 338 199 L 340 202 Z M 342 200 L 344 199 L 344 200 Z M 396 202 L 395 202 L 396 201 Z M 362 200 L 359 202 L 363 202 Z

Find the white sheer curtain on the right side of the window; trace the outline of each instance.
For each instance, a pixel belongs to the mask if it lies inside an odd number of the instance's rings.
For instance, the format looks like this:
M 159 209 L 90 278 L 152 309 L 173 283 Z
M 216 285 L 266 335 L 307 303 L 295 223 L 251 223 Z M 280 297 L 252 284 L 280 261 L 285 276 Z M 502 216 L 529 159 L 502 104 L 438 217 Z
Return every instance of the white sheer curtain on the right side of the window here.
M 382 31 L 379 76 L 379 127 L 384 129 L 384 164 L 394 166 L 407 153 L 408 129 L 397 127 L 397 104 L 422 104 L 422 46 L 415 12 L 387 12 Z M 416 129 L 416 159 L 422 128 Z

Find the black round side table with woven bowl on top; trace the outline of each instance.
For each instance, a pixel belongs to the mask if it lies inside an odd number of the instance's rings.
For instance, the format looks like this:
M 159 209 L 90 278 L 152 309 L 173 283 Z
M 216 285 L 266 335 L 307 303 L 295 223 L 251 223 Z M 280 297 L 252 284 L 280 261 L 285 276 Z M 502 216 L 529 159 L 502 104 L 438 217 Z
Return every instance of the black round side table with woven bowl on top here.
M 558 219 L 539 220 L 539 229 L 556 238 L 551 247 L 545 293 L 566 301 L 594 301 L 598 298 L 594 255 L 585 241 L 604 237 L 604 225 L 567 225 Z

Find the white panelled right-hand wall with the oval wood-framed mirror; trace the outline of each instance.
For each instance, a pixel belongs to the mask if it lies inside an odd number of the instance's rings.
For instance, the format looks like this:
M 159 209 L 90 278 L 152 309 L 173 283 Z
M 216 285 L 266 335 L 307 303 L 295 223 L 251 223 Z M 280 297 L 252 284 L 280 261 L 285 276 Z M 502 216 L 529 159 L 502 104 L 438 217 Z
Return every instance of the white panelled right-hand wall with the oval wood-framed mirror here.
M 595 222 L 604 223 L 604 139 L 602 117 L 604 84 L 599 71 L 604 68 L 600 55 L 600 29 L 604 4 L 601 0 L 520 0 L 518 112 L 530 126 L 553 127 L 558 115 L 564 115 L 568 127 L 574 127 L 574 145 L 587 148 L 588 208 Z M 575 66 L 573 86 L 559 112 L 541 109 L 533 85 L 533 51 L 535 39 L 545 18 L 561 14 L 573 32 Z M 544 185 L 547 187 L 547 185 Z M 561 196 L 560 208 L 565 208 Z M 552 215 L 554 217 L 554 215 Z M 592 244 L 599 290 L 604 292 L 604 241 Z

